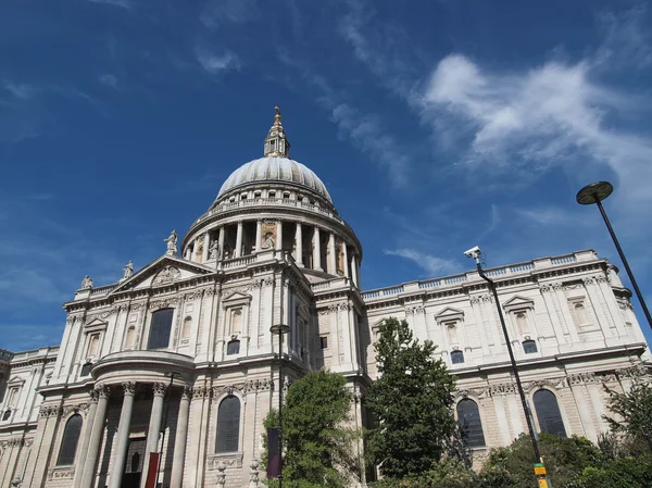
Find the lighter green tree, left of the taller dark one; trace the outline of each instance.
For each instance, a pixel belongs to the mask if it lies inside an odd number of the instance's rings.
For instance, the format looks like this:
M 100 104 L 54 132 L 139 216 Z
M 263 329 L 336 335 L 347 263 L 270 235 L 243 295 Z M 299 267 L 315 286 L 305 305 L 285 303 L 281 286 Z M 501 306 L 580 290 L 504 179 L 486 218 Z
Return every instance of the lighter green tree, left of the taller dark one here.
M 352 399 L 337 373 L 310 372 L 292 383 L 283 409 L 284 486 L 338 488 L 359 477 L 353 448 L 361 436 L 347 426 Z M 278 411 L 271 411 L 264 425 L 278 426 Z

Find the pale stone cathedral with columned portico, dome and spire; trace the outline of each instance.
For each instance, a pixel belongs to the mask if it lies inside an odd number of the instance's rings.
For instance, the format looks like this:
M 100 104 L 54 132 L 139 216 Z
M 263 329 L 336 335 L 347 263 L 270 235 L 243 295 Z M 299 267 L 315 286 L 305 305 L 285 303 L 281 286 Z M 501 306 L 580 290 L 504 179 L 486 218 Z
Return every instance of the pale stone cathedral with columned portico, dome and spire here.
M 354 391 L 356 425 L 386 317 L 405 318 L 457 376 L 456 415 L 478 459 L 526 424 L 496 305 L 476 272 L 363 291 L 361 242 L 319 178 L 289 159 L 277 111 L 264 157 L 154 262 L 64 304 L 59 347 L 0 351 L 0 488 L 263 483 L 262 421 L 284 387 L 322 367 Z M 162 249 L 164 245 L 162 243 Z M 595 440 L 602 384 L 649 377 L 649 353 L 615 266 L 585 250 L 488 271 L 539 430 Z

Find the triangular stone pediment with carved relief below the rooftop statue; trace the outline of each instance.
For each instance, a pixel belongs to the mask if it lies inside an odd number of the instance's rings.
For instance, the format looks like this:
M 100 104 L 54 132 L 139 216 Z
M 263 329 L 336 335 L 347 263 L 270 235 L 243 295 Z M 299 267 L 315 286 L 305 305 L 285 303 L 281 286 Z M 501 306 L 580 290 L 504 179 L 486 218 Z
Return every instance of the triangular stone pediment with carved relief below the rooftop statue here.
M 215 270 L 203 264 L 187 261 L 180 258 L 162 255 L 148 264 L 130 278 L 118 284 L 111 292 L 129 289 L 155 288 L 167 286 L 176 281 L 185 281 L 195 277 L 215 273 Z

